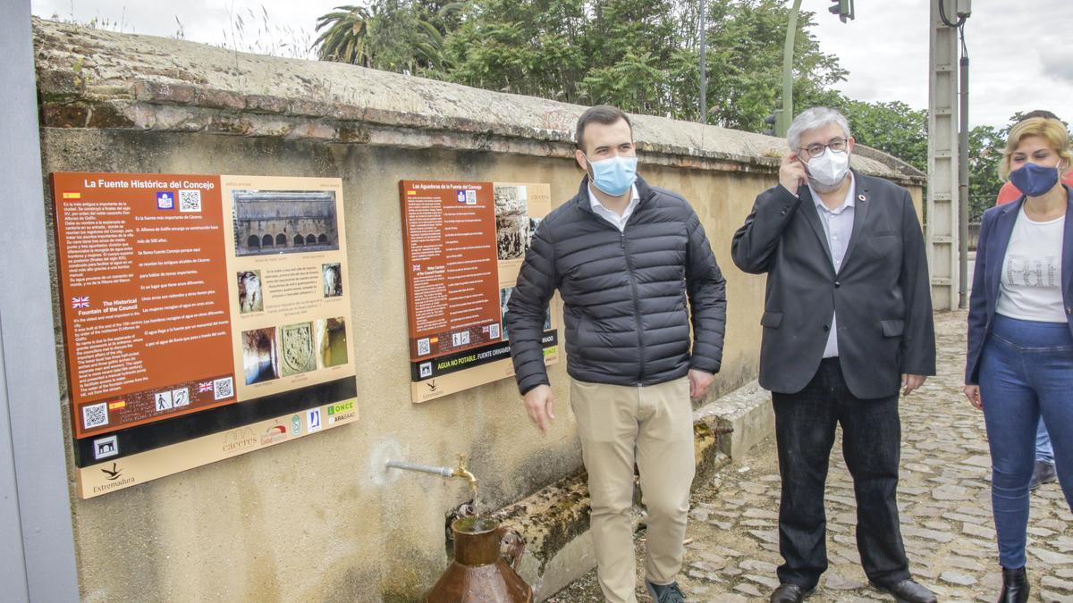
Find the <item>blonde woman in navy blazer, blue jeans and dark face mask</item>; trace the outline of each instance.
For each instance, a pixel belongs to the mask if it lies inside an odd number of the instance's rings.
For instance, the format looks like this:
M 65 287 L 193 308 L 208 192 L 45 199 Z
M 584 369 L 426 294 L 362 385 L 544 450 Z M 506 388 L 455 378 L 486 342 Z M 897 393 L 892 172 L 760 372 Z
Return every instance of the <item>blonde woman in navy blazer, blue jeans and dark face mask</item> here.
M 991 451 L 999 603 L 1028 601 L 1028 486 L 1041 416 L 1073 509 L 1073 191 L 1060 182 L 1071 164 L 1060 121 L 1017 123 L 999 173 L 1023 195 L 984 214 L 976 247 L 965 395 L 984 411 Z

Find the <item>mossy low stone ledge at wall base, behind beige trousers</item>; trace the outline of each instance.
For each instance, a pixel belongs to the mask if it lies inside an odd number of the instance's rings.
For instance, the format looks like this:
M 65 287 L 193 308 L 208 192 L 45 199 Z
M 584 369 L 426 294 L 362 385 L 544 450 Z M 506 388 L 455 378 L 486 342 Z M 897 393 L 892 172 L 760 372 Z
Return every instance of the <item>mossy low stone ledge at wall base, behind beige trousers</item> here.
M 770 397 L 755 382 L 694 411 L 693 484 L 710 481 L 732 457 L 740 457 L 770 435 L 774 425 Z M 526 541 L 518 573 L 533 587 L 535 601 L 547 599 L 596 567 L 586 479 L 584 472 L 577 473 L 493 513 Z M 637 495 L 634 528 L 644 517 L 640 488 Z

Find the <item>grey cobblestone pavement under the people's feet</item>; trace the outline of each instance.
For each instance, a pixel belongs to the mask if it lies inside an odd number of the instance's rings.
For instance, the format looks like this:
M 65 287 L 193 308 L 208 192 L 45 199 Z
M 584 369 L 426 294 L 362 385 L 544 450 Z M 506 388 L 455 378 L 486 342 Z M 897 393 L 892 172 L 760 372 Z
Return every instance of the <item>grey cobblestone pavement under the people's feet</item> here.
M 1001 585 L 990 510 L 990 457 L 983 414 L 961 395 L 965 312 L 936 314 L 939 374 L 901 401 L 898 506 L 910 570 L 938 599 L 997 600 Z M 868 585 L 854 540 L 853 486 L 836 443 L 827 479 L 831 569 L 810 601 L 893 598 Z M 693 494 L 686 567 L 690 601 L 767 601 L 778 586 L 779 474 L 771 439 Z M 1073 514 L 1057 483 L 1032 494 L 1028 570 L 1032 601 L 1073 603 Z M 638 532 L 638 560 L 644 532 Z M 638 571 L 643 563 L 638 561 Z M 637 583 L 642 583 L 638 574 Z M 549 599 L 601 601 L 594 572 Z M 638 591 L 638 601 L 649 601 Z

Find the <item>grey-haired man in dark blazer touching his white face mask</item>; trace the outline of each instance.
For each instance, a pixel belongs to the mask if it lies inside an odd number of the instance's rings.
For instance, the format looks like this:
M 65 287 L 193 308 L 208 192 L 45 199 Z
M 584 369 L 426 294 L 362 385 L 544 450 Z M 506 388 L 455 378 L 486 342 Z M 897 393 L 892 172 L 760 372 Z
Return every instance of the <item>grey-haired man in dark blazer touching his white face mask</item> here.
M 932 602 L 909 573 L 896 489 L 898 394 L 935 374 L 924 237 L 909 192 L 849 170 L 850 126 L 815 107 L 797 116 L 779 185 L 734 234 L 739 268 L 767 274 L 760 384 L 771 391 L 782 499 L 780 586 L 802 601 L 827 569 L 823 508 L 836 425 L 857 501 L 857 549 L 873 586 Z

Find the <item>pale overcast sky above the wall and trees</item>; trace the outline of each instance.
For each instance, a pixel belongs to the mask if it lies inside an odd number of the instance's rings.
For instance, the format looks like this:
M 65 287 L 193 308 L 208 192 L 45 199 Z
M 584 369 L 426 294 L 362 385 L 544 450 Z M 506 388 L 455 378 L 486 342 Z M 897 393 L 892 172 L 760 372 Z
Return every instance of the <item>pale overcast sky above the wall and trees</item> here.
M 953 5 L 954 0 L 947 0 Z M 317 17 L 359 0 L 32 0 L 34 15 L 79 23 L 94 17 L 111 29 L 174 35 L 240 48 L 308 45 Z M 825 53 L 850 71 L 839 86 L 861 101 L 928 104 L 929 0 L 856 0 L 856 19 L 842 24 L 826 12 L 831 0 L 804 0 L 817 13 L 813 29 Z M 262 10 L 267 12 L 268 27 Z M 235 16 L 246 23 L 234 30 Z M 1073 0 L 975 0 L 966 26 L 969 49 L 970 126 L 1002 127 L 1014 112 L 1047 108 L 1073 121 Z M 1064 38 L 1064 40 L 1063 40 Z

